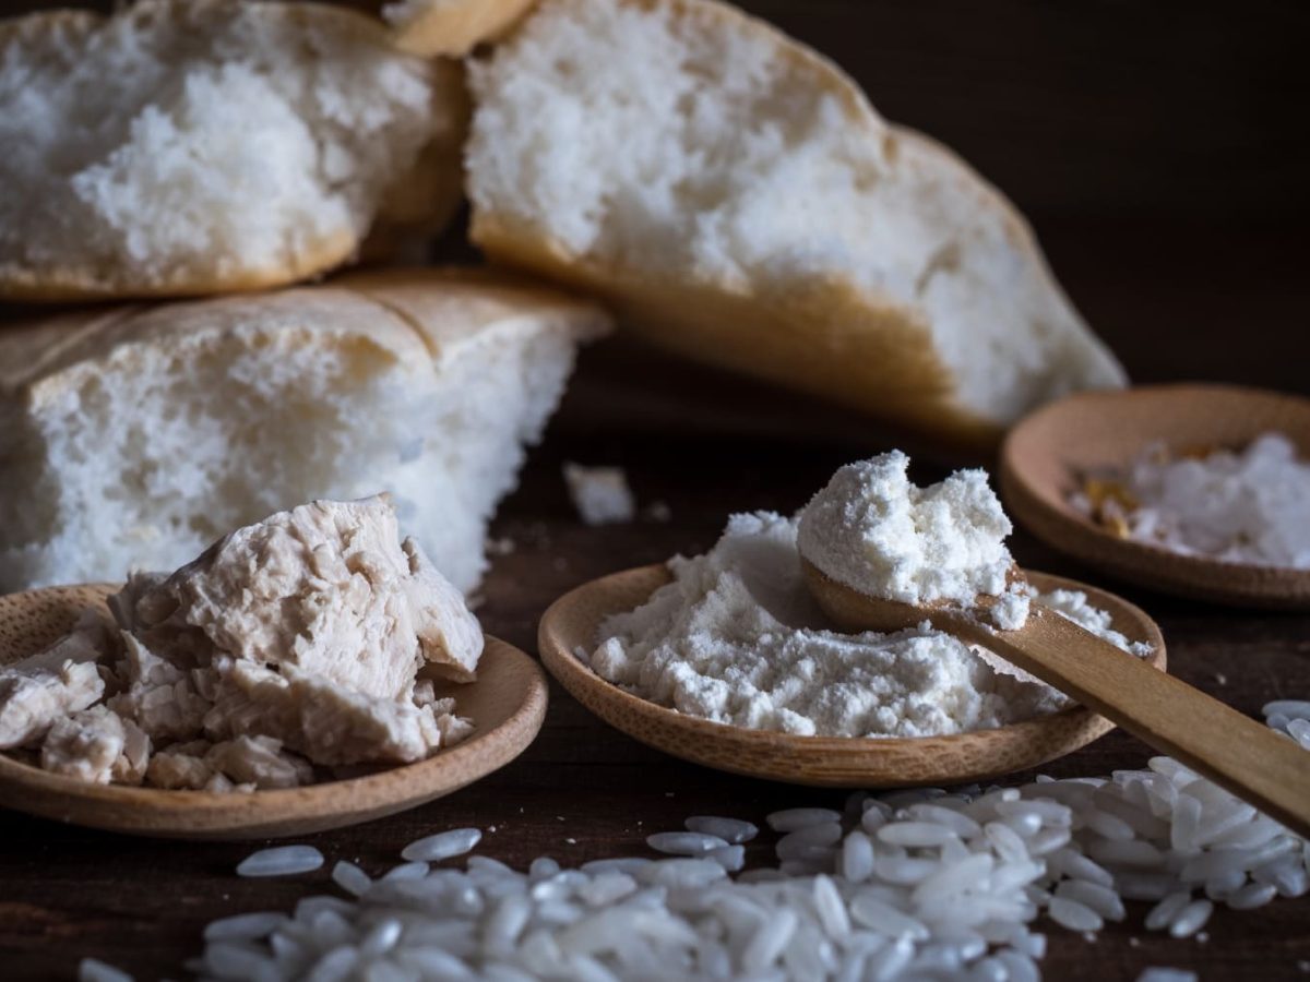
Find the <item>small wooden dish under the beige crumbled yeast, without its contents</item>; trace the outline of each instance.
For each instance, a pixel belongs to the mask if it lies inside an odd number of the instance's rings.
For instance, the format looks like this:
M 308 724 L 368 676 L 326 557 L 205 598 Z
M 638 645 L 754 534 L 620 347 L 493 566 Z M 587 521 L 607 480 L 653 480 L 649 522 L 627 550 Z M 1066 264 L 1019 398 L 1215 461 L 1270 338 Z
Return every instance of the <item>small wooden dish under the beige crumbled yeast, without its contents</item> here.
M 0 597 L 0 663 L 41 651 L 67 632 L 79 611 L 103 604 L 117 587 L 50 587 Z M 284 791 L 219 795 L 89 784 L 0 753 L 0 805 L 93 829 L 179 839 L 253 839 L 358 825 L 449 795 L 503 767 L 532 742 L 546 715 L 546 680 L 537 663 L 489 636 L 478 680 L 438 682 L 453 695 L 473 736 L 426 761 Z

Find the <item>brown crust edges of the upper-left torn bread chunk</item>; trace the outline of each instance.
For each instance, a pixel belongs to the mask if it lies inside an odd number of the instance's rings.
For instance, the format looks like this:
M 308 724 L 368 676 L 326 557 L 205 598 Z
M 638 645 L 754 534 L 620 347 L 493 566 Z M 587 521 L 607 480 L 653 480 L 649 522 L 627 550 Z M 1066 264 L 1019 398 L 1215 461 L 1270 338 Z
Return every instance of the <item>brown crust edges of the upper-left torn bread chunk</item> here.
M 139 22 L 144 29 L 153 18 L 172 18 L 183 25 L 203 24 L 206 16 L 233 7 L 238 0 L 139 0 L 113 17 L 84 10 L 51 10 L 0 22 L 0 58 L 10 46 L 41 47 L 66 60 L 85 45 L 90 35 L 111 22 Z M 331 31 L 341 37 L 363 38 L 379 47 L 393 47 L 386 27 L 356 10 L 320 3 L 241 4 L 257 10 L 270 24 L 283 22 L 300 27 Z M 460 145 L 466 131 L 469 103 L 458 65 L 428 65 L 434 80 L 434 97 L 443 100 L 444 115 L 453 120 L 453 131 L 434 135 L 414 166 L 397 174 L 390 189 L 379 202 L 376 237 L 362 240 L 354 229 L 337 228 L 316 241 L 307 242 L 287 262 L 262 267 L 242 266 L 232 271 L 193 272 L 185 279 L 148 280 L 128 268 L 93 268 L 86 264 L 30 267 L 0 261 L 0 300 L 13 302 L 69 302 L 92 300 L 193 297 L 216 293 L 242 293 L 282 287 L 318 276 L 352 261 L 367 244 L 369 258 L 388 258 L 407 236 L 431 236 L 439 232 L 462 200 L 462 162 Z

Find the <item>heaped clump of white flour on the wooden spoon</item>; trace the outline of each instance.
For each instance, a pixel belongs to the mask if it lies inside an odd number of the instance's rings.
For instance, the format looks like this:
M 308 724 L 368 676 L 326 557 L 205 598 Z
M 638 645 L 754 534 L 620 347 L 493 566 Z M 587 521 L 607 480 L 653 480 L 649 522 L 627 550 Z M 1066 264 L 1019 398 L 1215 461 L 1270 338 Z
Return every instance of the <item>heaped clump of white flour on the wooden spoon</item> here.
M 838 583 L 904 604 L 971 608 L 980 593 L 997 596 L 996 625 L 1023 627 L 1031 591 L 1007 581 L 1014 528 L 986 471 L 921 488 L 908 467 L 909 457 L 892 450 L 833 474 L 800 516 L 802 555 Z

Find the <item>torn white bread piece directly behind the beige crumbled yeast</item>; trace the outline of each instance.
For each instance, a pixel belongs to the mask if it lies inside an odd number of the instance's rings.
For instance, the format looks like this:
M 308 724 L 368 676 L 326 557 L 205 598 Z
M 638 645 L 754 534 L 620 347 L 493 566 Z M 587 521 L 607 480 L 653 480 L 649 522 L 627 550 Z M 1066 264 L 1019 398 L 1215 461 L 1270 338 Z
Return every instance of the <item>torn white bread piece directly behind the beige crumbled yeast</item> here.
M 232 528 L 389 491 L 460 589 L 593 304 L 483 270 L 69 313 L 0 331 L 0 593 L 172 570 Z

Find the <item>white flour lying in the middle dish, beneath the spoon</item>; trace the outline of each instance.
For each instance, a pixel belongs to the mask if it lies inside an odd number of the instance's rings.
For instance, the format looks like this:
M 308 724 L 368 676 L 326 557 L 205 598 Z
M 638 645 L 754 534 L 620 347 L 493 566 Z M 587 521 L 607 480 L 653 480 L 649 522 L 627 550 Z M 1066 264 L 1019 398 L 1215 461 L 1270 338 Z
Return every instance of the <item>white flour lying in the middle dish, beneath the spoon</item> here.
M 918 737 L 1069 704 L 1049 686 L 997 674 L 927 625 L 896 634 L 831 630 L 804 584 L 793 518 L 735 515 L 714 549 L 677 556 L 669 570 L 673 583 L 607 618 L 599 647 L 580 655 L 600 677 L 690 716 L 803 736 Z M 1129 647 L 1082 593 L 1038 602 Z

